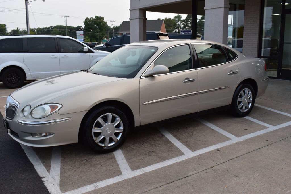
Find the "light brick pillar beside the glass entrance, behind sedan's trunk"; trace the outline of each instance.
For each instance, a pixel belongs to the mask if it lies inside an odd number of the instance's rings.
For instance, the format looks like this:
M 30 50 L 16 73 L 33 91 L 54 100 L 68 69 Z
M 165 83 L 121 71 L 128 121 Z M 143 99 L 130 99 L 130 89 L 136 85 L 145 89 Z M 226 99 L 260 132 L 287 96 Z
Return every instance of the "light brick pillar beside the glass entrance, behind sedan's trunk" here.
M 242 53 L 248 57 L 258 57 L 261 1 L 245 0 L 244 39 Z

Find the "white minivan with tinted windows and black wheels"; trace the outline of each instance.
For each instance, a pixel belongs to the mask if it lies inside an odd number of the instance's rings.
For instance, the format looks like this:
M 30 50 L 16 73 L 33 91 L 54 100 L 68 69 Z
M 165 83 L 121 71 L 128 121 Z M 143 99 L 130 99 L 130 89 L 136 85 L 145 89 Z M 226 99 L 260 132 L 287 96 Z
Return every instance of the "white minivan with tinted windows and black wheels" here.
M 25 80 L 88 69 L 108 54 L 69 36 L 0 36 L 0 80 L 18 88 Z

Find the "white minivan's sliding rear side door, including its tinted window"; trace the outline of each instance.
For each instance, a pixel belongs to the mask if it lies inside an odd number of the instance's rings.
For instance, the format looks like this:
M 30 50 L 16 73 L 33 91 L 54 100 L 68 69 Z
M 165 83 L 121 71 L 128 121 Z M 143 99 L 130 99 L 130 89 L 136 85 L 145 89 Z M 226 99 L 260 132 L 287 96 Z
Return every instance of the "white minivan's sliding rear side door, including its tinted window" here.
M 60 74 L 55 38 L 27 38 L 27 46 L 28 52 L 23 53 L 23 61 L 30 70 L 31 78 Z

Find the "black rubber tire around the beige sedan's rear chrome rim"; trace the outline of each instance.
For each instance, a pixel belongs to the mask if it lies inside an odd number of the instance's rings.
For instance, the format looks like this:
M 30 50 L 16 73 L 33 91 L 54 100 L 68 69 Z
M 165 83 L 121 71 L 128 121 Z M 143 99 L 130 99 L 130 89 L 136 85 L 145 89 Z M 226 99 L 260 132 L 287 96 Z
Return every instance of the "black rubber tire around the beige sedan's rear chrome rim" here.
M 246 94 L 246 91 L 248 94 L 250 94 L 249 92 L 251 92 L 252 98 L 247 97 L 247 96 L 244 98 L 241 98 L 241 97 L 243 97 L 241 92 L 243 94 Z M 239 101 L 238 100 L 239 97 L 242 100 Z M 236 117 L 245 117 L 253 110 L 253 107 L 255 104 L 255 97 L 256 97 L 255 90 L 253 89 L 253 87 L 250 84 L 240 84 L 237 87 L 237 89 L 235 90 L 235 93 L 233 94 L 233 100 L 232 100 L 231 106 L 230 106 L 230 113 Z M 252 100 L 251 105 L 249 105 L 250 102 L 247 102 L 247 100 L 250 100 L 250 99 Z M 243 103 L 243 101 L 244 101 L 244 103 Z M 246 103 L 247 103 L 247 105 L 244 105 Z M 239 108 L 241 105 L 242 105 L 242 107 Z M 244 106 L 245 106 L 245 109 L 244 109 Z M 247 106 L 249 106 L 249 108 Z

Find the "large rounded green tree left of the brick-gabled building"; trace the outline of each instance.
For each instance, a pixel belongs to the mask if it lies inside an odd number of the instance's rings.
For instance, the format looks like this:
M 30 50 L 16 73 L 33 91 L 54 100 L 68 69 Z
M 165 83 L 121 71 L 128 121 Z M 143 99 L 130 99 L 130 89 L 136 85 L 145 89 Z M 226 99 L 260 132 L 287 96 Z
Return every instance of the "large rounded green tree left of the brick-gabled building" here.
M 91 42 L 99 42 L 107 35 L 110 27 L 104 21 L 104 17 L 86 17 L 84 20 L 84 36 L 90 38 Z M 112 31 L 112 29 L 111 29 Z

